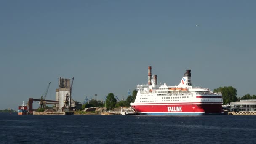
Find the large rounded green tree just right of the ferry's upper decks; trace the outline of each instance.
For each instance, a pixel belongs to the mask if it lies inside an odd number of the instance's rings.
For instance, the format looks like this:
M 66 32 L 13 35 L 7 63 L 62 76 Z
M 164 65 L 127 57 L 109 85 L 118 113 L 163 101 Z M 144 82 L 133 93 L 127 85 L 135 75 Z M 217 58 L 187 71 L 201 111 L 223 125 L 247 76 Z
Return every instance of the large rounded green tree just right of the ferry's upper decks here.
M 230 104 L 230 102 L 235 102 L 238 100 L 237 98 L 237 90 L 232 86 L 229 87 L 219 87 L 213 90 L 214 93 L 221 92 L 223 104 Z

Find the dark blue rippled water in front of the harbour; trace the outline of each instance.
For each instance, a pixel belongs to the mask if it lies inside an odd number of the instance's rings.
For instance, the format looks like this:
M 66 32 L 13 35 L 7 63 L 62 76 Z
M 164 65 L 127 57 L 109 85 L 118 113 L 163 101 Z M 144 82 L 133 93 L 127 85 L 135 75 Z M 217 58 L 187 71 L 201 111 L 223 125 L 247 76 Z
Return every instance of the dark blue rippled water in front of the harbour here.
M 256 115 L 7 115 L 0 143 L 255 144 Z

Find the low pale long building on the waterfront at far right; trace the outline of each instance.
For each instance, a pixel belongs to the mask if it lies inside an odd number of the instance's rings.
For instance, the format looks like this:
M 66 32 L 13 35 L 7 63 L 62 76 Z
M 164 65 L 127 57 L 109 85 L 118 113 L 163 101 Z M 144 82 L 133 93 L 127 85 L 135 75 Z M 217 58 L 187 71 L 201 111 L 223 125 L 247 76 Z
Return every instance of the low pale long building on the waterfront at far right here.
M 239 112 L 256 112 L 256 99 L 243 99 L 239 102 L 231 102 L 230 109 Z

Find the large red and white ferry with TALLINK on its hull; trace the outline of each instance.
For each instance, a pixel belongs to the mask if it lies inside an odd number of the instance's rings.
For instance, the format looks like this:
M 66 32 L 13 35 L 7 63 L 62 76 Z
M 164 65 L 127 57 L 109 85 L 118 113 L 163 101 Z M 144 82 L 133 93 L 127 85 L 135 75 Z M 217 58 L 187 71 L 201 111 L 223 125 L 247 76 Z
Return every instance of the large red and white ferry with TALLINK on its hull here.
M 140 115 L 221 115 L 222 94 L 208 88 L 193 87 L 191 70 L 179 85 L 157 84 L 157 75 L 148 67 L 148 84 L 137 85 L 138 93 L 131 107 Z

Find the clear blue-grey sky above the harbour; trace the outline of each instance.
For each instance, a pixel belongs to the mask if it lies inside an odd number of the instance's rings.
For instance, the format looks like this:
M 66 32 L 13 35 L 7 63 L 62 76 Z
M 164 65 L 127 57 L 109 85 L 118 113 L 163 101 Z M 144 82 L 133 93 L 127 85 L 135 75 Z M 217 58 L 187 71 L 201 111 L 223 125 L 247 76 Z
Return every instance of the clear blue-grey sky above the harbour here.
M 58 78 L 74 78 L 72 98 L 120 100 L 147 84 L 255 90 L 255 0 L 2 0 L 0 109 L 55 99 Z

